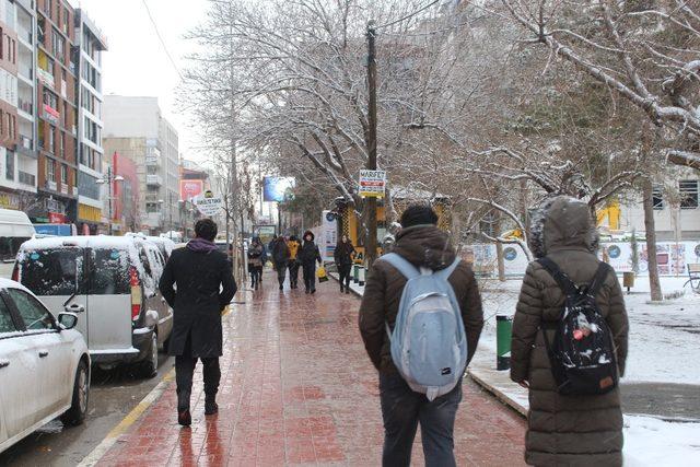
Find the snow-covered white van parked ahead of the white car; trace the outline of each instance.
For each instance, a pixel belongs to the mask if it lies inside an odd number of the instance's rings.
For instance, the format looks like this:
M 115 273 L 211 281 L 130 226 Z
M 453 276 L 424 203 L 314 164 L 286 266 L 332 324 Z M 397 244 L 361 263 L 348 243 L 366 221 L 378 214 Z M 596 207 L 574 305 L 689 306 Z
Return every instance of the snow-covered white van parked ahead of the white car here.
M 56 313 L 68 306 L 93 363 L 109 370 L 133 363 L 158 370 L 159 347 L 173 329 L 173 311 L 158 290 L 165 259 L 139 237 L 74 236 L 22 245 L 13 278 Z

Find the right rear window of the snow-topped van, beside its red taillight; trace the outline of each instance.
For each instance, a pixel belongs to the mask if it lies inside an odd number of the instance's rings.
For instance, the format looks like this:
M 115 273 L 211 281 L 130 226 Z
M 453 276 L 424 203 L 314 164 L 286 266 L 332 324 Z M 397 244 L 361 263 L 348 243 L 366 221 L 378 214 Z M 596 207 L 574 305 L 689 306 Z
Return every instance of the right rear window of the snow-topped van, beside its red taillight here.
M 90 293 L 115 295 L 130 293 L 128 253 L 119 249 L 95 249 Z

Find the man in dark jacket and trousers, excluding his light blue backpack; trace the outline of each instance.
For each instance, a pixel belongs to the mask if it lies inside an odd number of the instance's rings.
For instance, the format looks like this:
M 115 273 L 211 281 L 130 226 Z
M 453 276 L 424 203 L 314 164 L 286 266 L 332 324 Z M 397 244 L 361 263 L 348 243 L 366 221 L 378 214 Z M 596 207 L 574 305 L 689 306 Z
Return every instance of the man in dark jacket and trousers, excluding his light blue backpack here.
M 454 422 L 462 400 L 462 375 L 471 360 L 483 326 L 479 288 L 471 268 L 457 261 L 446 233 L 438 229 L 438 215 L 428 206 L 411 206 L 401 215 L 401 231 L 393 253 L 417 268 L 440 275 L 446 271 L 457 312 L 464 324 L 456 329 L 466 336 L 465 367 L 455 370 L 456 385 L 448 393 L 433 399 L 415 392 L 399 374 L 390 352 L 389 329 L 395 329 L 400 299 L 407 279 L 385 259 L 377 260 L 368 277 L 362 305 L 360 331 L 370 359 L 380 373 L 380 398 L 384 419 L 384 466 L 408 466 L 418 423 L 421 427 L 423 455 L 429 467 L 455 466 Z M 453 269 L 454 268 L 454 269 Z M 450 273 L 451 272 L 451 273 Z M 452 303 L 452 302 L 451 302 Z M 388 328 L 387 328 L 388 327 Z M 455 337 L 454 335 L 452 336 Z M 435 357 L 435 355 L 431 355 Z M 441 369 L 436 372 L 446 374 Z M 451 371 L 451 370 L 450 370 Z

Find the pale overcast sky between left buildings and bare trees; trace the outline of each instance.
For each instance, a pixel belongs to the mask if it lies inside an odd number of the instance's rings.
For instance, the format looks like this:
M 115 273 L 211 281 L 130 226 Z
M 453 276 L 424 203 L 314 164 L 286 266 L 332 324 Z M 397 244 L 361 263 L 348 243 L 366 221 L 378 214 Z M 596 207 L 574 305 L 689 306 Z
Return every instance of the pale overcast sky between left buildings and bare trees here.
M 185 157 L 207 157 L 198 147 L 187 116 L 175 101 L 179 77 L 167 59 L 143 0 L 69 0 L 82 8 L 107 37 L 109 49 L 103 58 L 104 94 L 156 96 L 161 110 L 179 132 L 179 151 Z M 186 67 L 185 56 L 194 45 L 184 35 L 205 16 L 206 0 L 145 0 L 167 49 L 177 67 Z

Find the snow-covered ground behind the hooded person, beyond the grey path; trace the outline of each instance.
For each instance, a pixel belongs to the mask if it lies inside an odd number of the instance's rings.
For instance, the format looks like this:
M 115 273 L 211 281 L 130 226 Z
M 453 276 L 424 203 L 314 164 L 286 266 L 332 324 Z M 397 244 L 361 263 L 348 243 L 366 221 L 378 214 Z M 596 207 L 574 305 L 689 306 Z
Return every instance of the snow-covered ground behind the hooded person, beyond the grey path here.
M 682 289 L 684 282 L 682 278 L 662 278 L 664 293 L 686 291 L 680 299 L 663 304 L 648 303 L 646 278 L 638 278 L 634 292 L 625 296 L 630 319 L 625 381 L 700 385 L 700 295 Z M 520 280 L 482 281 L 485 348 L 495 349 L 495 315 L 513 315 L 520 287 Z

